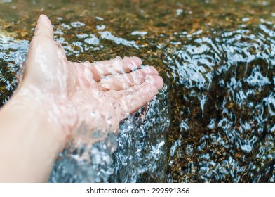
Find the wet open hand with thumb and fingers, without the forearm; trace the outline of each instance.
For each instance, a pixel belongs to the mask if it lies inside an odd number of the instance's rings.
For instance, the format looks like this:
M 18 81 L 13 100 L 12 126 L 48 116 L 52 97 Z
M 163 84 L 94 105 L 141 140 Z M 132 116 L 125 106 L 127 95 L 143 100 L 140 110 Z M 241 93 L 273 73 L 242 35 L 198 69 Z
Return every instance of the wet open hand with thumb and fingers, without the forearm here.
M 96 63 L 67 61 L 64 49 L 53 40 L 50 20 L 41 15 L 22 84 L 32 87 L 37 100 L 45 101 L 52 121 L 67 134 L 81 125 L 114 131 L 121 120 L 145 106 L 163 87 L 156 69 L 141 65 L 137 57 Z

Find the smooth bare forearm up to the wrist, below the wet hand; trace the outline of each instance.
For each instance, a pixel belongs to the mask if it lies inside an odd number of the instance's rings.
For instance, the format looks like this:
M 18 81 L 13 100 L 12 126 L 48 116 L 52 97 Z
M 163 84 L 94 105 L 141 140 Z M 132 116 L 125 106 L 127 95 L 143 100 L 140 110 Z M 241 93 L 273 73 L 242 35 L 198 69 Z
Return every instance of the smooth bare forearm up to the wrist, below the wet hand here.
M 63 140 L 46 108 L 15 94 L 0 110 L 0 182 L 45 182 Z

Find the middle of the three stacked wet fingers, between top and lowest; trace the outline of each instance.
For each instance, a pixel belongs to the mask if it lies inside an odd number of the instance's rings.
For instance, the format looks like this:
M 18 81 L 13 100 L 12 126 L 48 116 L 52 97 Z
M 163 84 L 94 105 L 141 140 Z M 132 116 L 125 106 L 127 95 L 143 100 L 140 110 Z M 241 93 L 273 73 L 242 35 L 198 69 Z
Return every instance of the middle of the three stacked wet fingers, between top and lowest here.
M 156 71 L 156 68 L 150 66 L 126 74 L 107 75 L 98 84 L 103 91 L 129 89 L 134 85 L 142 84 L 150 75 L 159 75 L 159 72 Z

